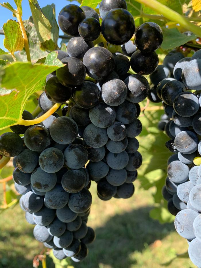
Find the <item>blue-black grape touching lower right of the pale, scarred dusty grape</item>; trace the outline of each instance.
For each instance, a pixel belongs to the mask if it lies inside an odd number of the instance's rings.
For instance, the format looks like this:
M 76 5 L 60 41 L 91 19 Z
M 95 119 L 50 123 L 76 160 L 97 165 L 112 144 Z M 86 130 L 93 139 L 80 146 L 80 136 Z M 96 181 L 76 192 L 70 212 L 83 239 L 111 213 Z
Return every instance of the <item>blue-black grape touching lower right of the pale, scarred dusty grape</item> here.
M 125 100 L 116 108 L 116 120 L 123 124 L 130 124 L 136 119 L 137 108 L 134 103 Z

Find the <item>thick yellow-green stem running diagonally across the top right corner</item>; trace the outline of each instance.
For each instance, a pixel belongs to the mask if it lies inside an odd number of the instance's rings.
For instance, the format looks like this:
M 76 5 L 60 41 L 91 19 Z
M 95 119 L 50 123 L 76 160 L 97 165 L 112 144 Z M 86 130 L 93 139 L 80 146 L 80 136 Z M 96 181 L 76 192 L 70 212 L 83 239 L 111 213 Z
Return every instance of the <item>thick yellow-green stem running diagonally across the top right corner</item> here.
M 168 20 L 179 23 L 183 28 L 193 32 L 197 36 L 201 36 L 201 28 L 188 21 L 176 11 L 159 3 L 156 0 L 136 0 L 140 4 L 144 4 L 159 14 L 162 14 Z

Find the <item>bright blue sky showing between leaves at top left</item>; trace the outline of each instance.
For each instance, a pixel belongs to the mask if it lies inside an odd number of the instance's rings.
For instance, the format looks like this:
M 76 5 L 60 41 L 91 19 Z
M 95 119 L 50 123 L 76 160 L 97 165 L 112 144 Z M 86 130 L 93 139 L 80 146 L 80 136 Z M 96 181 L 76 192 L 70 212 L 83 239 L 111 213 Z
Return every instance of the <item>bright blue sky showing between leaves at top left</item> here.
M 7 2 L 7 1 L 5 1 Z M 11 4 L 11 6 L 16 9 L 16 4 L 13 0 L 8 0 L 8 2 Z M 3 1 L 1 1 L 1 3 L 3 3 Z M 55 0 L 38 0 L 38 3 L 40 5 L 40 7 L 45 7 L 46 5 L 51 5 L 52 3 L 54 3 L 56 5 L 56 19 L 58 19 L 58 15 L 60 10 L 65 6 L 70 4 L 69 1 L 66 0 L 60 0 L 60 1 L 55 1 Z M 72 1 L 72 4 L 76 4 L 76 5 L 80 5 L 78 2 L 76 1 Z M 22 0 L 22 11 L 23 11 L 23 16 L 22 19 L 23 20 L 27 20 L 30 16 L 31 16 L 31 11 L 30 11 L 30 7 L 29 7 L 29 3 L 28 0 Z M 12 16 L 12 12 L 4 7 L 0 6 L 0 29 L 2 30 L 2 26 L 5 22 L 7 22 L 7 20 L 16 20 L 16 18 L 14 18 Z M 59 34 L 63 34 L 62 31 L 60 30 Z M 0 48 L 1 49 L 5 49 L 3 46 L 3 39 L 4 36 L 0 35 Z

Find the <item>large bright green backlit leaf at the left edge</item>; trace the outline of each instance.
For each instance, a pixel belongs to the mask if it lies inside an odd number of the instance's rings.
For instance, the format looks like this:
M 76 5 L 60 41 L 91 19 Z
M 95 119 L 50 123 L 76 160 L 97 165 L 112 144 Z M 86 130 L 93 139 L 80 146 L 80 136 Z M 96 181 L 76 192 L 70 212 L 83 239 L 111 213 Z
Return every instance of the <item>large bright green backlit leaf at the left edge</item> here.
M 45 64 L 15 62 L 0 71 L 1 86 L 15 88 L 10 94 L 0 97 L 0 129 L 17 124 L 22 119 L 28 98 L 44 87 L 45 77 L 49 73 L 62 66 L 57 53 L 52 52 L 47 56 Z

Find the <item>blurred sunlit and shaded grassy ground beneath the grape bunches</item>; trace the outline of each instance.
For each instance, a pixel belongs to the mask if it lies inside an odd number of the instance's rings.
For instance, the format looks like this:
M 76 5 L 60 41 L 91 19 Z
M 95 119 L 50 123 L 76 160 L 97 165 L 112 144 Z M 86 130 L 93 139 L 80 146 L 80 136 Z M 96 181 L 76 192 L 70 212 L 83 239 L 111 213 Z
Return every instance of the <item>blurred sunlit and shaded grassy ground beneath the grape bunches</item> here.
M 174 225 L 161 225 L 150 219 L 152 192 L 139 189 L 127 200 L 101 201 L 92 183 L 93 204 L 88 225 L 96 230 L 96 240 L 89 246 L 85 261 L 75 268 L 162 268 L 187 251 L 188 244 L 175 231 Z M 153 189 L 154 190 L 154 189 Z M 43 249 L 34 240 L 33 225 L 24 219 L 19 204 L 0 215 L 0 268 L 31 268 L 32 260 Z M 42 267 L 40 264 L 39 267 Z M 47 257 L 47 268 L 54 268 Z M 169 268 L 194 268 L 189 259 L 176 258 Z

